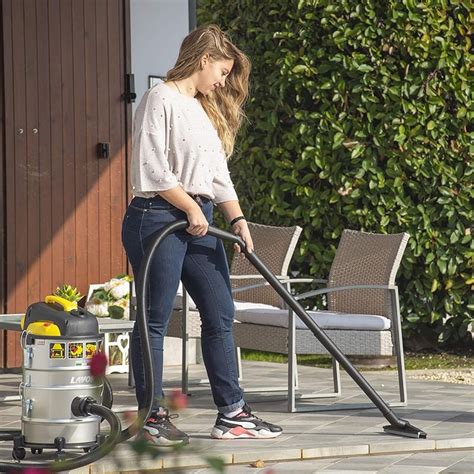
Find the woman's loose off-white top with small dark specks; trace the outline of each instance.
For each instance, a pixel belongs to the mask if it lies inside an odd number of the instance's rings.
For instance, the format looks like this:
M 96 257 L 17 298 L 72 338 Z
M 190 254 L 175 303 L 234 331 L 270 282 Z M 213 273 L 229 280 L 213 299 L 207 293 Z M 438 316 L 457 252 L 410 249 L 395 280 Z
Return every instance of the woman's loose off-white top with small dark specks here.
M 222 142 L 200 102 L 157 84 L 143 96 L 133 123 L 132 191 L 152 197 L 181 185 L 220 203 L 237 200 Z

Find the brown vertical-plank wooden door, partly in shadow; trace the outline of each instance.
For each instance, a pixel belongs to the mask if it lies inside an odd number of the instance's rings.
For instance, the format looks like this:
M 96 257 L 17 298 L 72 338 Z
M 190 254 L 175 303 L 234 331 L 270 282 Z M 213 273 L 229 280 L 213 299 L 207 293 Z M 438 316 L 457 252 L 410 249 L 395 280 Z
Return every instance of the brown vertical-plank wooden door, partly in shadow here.
M 128 11 L 128 0 L 2 2 L 3 312 L 127 271 Z M 18 333 L 1 345 L 1 366 L 19 366 Z

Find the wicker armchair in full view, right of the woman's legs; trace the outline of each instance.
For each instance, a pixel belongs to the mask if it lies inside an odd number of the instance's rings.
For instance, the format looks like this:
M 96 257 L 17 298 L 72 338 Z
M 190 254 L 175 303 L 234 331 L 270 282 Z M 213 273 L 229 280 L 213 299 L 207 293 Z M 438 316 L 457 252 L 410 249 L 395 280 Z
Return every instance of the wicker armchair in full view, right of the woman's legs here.
M 327 287 L 296 296 L 297 300 L 303 300 L 327 295 L 328 310 L 309 311 L 308 314 L 346 355 L 396 355 L 400 402 L 392 403 L 392 406 L 404 406 L 407 402 L 398 289 L 394 283 L 408 238 L 405 233 L 382 235 L 345 230 Z M 286 283 L 289 287 L 324 281 L 297 278 L 288 279 Z M 255 298 L 254 302 L 260 300 Z M 325 348 L 288 309 L 265 309 L 258 305 L 237 309 L 236 320 L 239 321 L 234 325 L 237 346 L 288 354 L 288 411 L 299 411 L 295 402 L 296 355 L 327 354 Z M 333 376 L 334 392 L 300 395 L 300 398 L 339 396 L 339 365 L 336 362 L 333 362 Z M 357 408 L 371 406 L 358 405 Z M 306 411 L 328 408 L 339 407 L 314 404 L 304 407 Z

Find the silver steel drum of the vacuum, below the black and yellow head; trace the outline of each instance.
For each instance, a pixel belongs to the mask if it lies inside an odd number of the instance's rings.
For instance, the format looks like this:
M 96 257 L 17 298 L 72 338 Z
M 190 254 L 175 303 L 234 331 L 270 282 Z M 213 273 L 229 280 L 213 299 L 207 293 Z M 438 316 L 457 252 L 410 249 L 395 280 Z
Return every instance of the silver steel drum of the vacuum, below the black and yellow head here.
M 22 335 L 24 351 L 21 428 L 25 443 L 65 446 L 95 443 L 100 417 L 76 417 L 71 402 L 90 396 L 101 403 L 103 383 L 90 373 L 90 360 L 102 343 L 102 335 L 42 337 Z

